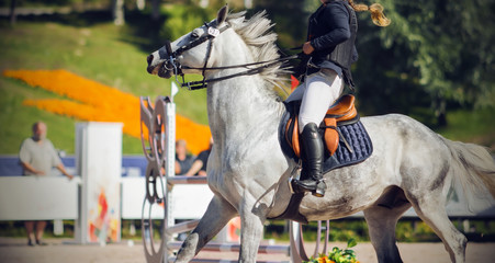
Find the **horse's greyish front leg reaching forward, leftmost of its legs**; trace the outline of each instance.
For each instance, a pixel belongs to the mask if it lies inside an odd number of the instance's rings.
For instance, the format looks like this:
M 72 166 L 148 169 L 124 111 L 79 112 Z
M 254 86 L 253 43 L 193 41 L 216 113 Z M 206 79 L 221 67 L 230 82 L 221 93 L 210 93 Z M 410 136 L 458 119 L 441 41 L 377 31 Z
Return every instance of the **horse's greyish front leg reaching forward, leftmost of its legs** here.
M 213 196 L 198 227 L 192 230 L 182 243 L 176 262 L 191 261 L 236 215 L 236 209 L 228 202 L 216 195 Z

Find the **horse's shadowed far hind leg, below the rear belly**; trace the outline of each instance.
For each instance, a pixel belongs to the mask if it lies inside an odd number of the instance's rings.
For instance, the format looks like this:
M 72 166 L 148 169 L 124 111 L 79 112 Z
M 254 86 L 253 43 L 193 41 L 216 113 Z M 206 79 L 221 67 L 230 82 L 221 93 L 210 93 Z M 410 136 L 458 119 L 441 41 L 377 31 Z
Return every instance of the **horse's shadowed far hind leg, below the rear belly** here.
M 396 207 L 372 206 L 364 210 L 364 218 L 369 227 L 371 243 L 380 263 L 403 262 L 395 240 L 395 226 L 410 204 Z

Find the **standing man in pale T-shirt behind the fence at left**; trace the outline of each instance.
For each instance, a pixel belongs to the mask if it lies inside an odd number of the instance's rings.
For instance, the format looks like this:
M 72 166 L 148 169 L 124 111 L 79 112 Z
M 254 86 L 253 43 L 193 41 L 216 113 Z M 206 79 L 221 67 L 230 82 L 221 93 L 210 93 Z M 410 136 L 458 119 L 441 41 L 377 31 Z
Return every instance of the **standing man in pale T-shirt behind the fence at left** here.
M 68 179 L 74 178 L 67 173 L 52 141 L 46 138 L 46 125 L 42 122 L 33 124 L 33 137 L 22 142 L 19 159 L 24 175 L 53 176 L 52 169 L 55 167 Z M 25 221 L 24 226 L 29 245 L 34 245 L 35 242 L 36 244 L 45 244 L 42 242 L 42 238 L 46 221 Z M 36 235 L 34 235 L 35 230 Z

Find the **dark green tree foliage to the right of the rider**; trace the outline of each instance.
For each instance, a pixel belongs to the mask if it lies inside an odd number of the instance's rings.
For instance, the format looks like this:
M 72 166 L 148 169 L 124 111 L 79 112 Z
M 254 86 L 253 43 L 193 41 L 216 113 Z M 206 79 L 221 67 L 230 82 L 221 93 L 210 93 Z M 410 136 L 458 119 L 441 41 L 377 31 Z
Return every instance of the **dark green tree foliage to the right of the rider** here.
M 392 24 L 372 27 L 361 14 L 358 42 L 357 79 L 364 80 L 372 105 L 387 99 L 394 108 L 398 98 L 425 106 L 428 99 L 439 125 L 446 124 L 448 105 L 494 105 L 494 0 L 380 2 Z

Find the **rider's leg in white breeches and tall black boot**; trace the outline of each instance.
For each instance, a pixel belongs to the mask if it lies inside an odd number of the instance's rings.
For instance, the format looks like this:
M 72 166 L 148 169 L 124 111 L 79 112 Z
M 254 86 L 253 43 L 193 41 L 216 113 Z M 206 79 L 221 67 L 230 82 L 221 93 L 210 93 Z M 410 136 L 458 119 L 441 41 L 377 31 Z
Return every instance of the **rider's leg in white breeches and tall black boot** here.
M 326 188 L 322 180 L 324 146 L 318 133 L 318 124 L 322 123 L 328 107 L 342 92 L 344 84 L 334 70 L 324 69 L 310 76 L 305 88 L 299 115 L 303 171 L 302 180 L 296 184 L 303 191 L 323 196 Z

